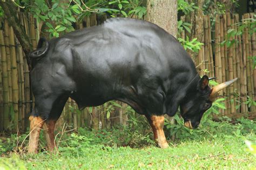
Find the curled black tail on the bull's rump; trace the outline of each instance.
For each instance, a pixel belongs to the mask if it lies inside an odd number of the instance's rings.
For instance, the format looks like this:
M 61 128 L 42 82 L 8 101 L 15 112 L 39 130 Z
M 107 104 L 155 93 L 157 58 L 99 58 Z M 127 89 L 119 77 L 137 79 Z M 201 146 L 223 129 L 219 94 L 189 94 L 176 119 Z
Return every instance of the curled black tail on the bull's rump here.
M 43 46 L 43 44 L 45 44 Z M 37 44 L 37 49 L 30 52 L 29 57 L 32 59 L 39 59 L 46 55 L 49 50 L 49 42 L 45 38 L 40 38 Z

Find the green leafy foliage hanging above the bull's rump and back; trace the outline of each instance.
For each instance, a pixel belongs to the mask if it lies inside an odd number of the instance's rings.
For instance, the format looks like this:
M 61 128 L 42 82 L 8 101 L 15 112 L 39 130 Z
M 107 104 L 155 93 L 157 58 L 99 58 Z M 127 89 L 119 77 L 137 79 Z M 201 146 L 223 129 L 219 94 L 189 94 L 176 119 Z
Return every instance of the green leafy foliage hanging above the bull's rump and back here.
M 109 13 L 112 17 L 136 15 L 142 18 L 146 15 L 146 8 L 141 5 L 142 1 L 139 0 L 69 0 L 68 2 L 52 0 L 49 3 L 41 0 L 19 0 L 18 4 L 24 6 L 24 12 L 32 14 L 38 24 L 46 24 L 50 38 L 59 37 L 60 33 L 64 31 L 73 31 L 73 25 L 80 22 L 85 16 L 90 16 L 92 12 Z M 0 17 L 1 11 L 0 9 Z

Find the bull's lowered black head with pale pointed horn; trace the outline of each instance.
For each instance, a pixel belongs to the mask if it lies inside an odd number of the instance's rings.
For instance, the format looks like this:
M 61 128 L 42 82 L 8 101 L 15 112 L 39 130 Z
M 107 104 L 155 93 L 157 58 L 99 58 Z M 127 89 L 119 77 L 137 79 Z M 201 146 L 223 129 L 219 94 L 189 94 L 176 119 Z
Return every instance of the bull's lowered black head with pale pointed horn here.
M 209 78 L 203 76 L 197 84 L 197 90 L 187 94 L 184 102 L 180 104 L 180 113 L 184 119 L 185 126 L 188 128 L 197 128 L 205 111 L 211 106 L 218 92 L 231 85 L 237 78 L 214 86 L 212 89 L 208 86 Z

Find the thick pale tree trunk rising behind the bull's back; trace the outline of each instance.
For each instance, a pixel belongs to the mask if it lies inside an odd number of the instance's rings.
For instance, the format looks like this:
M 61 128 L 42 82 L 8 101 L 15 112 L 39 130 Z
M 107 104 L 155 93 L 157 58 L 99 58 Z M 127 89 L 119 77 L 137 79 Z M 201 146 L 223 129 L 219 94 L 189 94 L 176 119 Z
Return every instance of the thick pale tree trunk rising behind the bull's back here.
M 174 37 L 177 37 L 177 0 L 148 0 L 147 1 L 147 21 L 157 24 Z M 174 118 L 165 116 L 176 124 Z M 172 140 L 175 135 L 172 136 Z

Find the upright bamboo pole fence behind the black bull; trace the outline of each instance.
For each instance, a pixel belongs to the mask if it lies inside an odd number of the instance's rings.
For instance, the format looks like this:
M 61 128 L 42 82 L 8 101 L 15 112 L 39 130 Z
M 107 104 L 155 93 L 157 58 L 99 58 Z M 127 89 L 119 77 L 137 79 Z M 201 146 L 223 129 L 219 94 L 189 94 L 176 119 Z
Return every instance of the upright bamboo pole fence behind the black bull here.
M 252 13 L 246 13 L 242 19 L 252 18 Z M 30 36 L 34 48 L 39 39 L 38 25 L 32 16 L 18 13 L 19 22 L 26 34 Z M 101 24 L 106 16 L 93 13 L 77 24 L 77 29 L 87 28 Z M 217 82 L 238 78 L 235 84 L 223 90 L 220 97 L 226 98 L 227 110 L 222 115 L 237 117 L 247 112 L 255 112 L 254 106 L 245 104 L 248 97 L 255 100 L 256 70 L 253 68 L 252 56 L 256 56 L 256 35 L 250 35 L 248 30 L 241 36 L 235 36 L 237 43 L 231 47 L 221 45 L 226 39 L 228 29 L 237 29 L 241 22 L 237 14 L 217 15 L 215 17 L 215 32 L 211 28 L 211 19 L 204 16 L 204 45 L 199 51 L 198 71 L 200 75 L 207 74 L 209 77 L 217 77 Z M 21 44 L 14 35 L 11 26 L 6 20 L 0 21 L 0 132 L 2 131 L 26 131 L 29 127 L 28 117 L 34 105 L 34 99 L 30 88 L 29 67 L 22 51 Z M 187 32 L 182 33 L 185 37 Z M 205 72 L 206 71 L 206 72 Z M 248 96 L 248 97 L 247 97 Z M 110 117 L 106 117 L 109 104 L 85 108 L 82 111 L 72 99 L 68 99 L 60 122 L 66 122 L 72 128 L 92 127 L 110 128 L 116 124 L 126 124 L 126 104 L 117 103 L 122 108 L 114 107 Z

